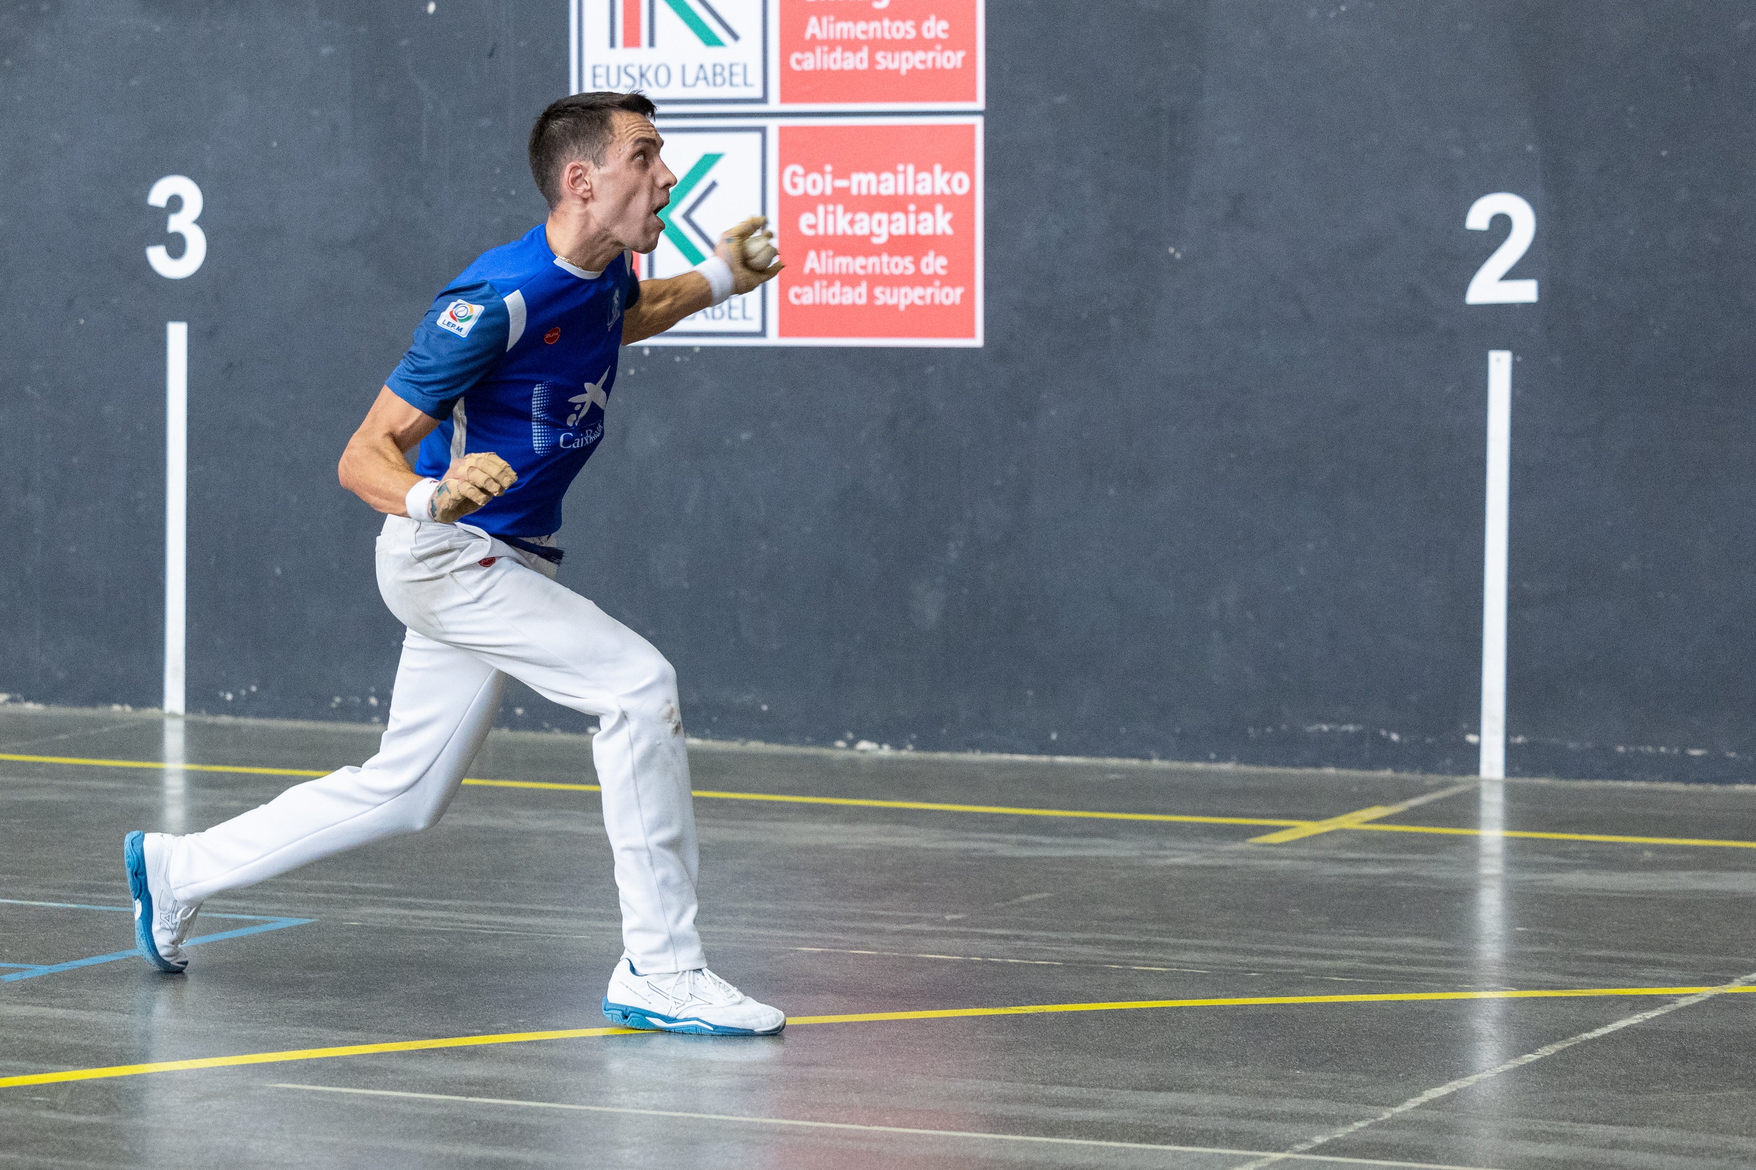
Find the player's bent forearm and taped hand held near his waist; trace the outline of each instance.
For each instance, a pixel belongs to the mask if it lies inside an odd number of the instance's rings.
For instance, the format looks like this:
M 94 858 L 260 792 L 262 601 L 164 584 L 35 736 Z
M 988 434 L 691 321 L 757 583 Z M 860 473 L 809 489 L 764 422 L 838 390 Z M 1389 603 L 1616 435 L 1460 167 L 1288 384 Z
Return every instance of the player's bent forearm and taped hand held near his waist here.
M 407 516 L 409 488 L 421 477 L 409 468 L 402 453 L 427 439 L 435 426 L 439 419 L 411 407 L 385 386 L 378 391 L 378 402 L 367 410 L 360 430 L 341 453 L 341 463 L 335 467 L 341 486 L 379 512 Z M 493 453 L 465 454 L 451 461 L 434 489 L 432 516 L 416 519 L 439 519 L 450 524 L 511 488 L 516 479 L 518 474 Z

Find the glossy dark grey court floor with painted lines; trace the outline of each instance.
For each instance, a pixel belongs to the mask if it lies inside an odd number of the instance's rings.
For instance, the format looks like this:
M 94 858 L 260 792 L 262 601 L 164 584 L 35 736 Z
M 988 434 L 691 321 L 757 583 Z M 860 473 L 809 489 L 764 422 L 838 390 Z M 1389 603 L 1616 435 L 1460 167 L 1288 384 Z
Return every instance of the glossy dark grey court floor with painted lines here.
M 1756 1165 L 1756 788 L 699 744 L 741 1040 L 606 1026 L 588 742 L 497 733 L 128 958 L 125 831 L 376 735 L 0 707 L 0 1166 Z

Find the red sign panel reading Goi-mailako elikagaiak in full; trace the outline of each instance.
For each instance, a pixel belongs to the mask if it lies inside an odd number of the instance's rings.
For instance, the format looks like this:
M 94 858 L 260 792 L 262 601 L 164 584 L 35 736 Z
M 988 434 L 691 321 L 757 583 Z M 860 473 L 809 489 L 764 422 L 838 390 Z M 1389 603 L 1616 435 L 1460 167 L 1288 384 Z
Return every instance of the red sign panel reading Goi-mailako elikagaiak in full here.
M 776 133 L 778 339 L 980 346 L 980 119 Z

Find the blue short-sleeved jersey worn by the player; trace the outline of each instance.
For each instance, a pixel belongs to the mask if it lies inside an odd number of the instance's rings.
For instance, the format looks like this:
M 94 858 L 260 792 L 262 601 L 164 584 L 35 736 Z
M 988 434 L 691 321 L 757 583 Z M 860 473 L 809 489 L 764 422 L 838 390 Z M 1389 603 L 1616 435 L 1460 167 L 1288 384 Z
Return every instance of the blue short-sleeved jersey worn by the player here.
M 627 253 L 587 272 L 555 256 L 537 225 L 483 253 L 434 300 L 386 384 L 439 419 L 421 440 L 418 475 L 439 479 L 476 451 L 518 472 L 467 524 L 495 537 L 560 528 L 560 498 L 604 439 L 622 312 L 639 295 Z

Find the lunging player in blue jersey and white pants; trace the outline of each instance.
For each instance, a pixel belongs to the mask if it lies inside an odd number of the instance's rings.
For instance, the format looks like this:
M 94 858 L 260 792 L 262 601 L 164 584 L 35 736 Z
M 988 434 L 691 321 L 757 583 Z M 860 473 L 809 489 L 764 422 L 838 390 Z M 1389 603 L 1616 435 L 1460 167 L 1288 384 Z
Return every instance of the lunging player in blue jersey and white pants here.
M 695 933 L 695 819 L 671 663 L 555 582 L 560 500 L 604 437 L 620 346 L 780 272 L 757 218 L 694 272 L 636 279 L 629 251 L 658 246 L 676 184 L 653 112 L 637 93 L 543 111 L 530 172 L 548 223 L 439 293 L 348 440 L 341 482 L 388 514 L 378 588 L 407 626 L 390 721 L 363 767 L 205 833 L 128 833 L 135 938 L 160 970 L 188 967 L 183 942 L 205 898 L 439 821 L 511 675 L 599 719 L 592 760 L 623 940 L 604 1014 L 713 1035 L 785 1028 L 780 1010 L 708 970 Z

